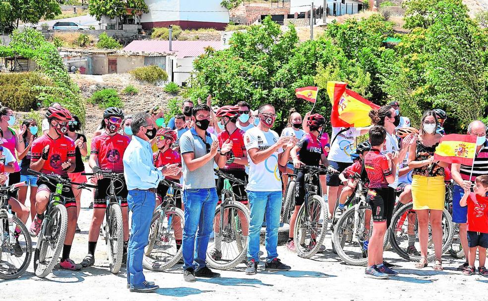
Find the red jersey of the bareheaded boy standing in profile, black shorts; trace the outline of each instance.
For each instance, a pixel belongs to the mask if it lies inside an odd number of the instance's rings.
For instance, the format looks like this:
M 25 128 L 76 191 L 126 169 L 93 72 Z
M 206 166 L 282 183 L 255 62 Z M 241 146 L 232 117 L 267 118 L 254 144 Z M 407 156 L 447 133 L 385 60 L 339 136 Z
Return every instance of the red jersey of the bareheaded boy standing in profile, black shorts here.
M 369 179 L 369 188 L 386 188 L 386 177 L 391 175 L 388 158 L 376 149 L 371 149 L 365 156 L 365 169 Z

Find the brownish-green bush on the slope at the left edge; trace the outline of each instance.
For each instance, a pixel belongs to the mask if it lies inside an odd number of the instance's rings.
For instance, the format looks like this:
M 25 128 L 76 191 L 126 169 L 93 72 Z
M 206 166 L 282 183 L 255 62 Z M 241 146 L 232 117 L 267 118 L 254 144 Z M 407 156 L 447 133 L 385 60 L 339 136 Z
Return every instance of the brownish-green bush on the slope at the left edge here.
M 36 72 L 0 73 L 0 102 L 14 111 L 37 108 L 39 91 L 34 86 L 51 85 Z

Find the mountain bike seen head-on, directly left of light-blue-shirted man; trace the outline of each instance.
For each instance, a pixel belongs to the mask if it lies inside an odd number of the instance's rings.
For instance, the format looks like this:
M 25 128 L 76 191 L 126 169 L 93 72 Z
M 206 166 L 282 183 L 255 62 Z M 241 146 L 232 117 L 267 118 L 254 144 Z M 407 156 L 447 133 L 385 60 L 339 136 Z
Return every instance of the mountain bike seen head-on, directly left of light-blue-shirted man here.
M 94 176 L 94 173 L 81 173 L 86 176 Z M 122 187 L 125 179 L 122 173 L 115 173 L 104 170 L 102 172 L 104 179 L 110 179 L 109 191 L 106 201 L 105 220 L 100 227 L 100 235 L 105 240 L 107 246 L 107 255 L 109 259 L 110 271 L 113 274 L 119 273 L 122 267 L 123 257 L 123 218 L 122 218 L 122 198 L 117 196 L 115 189 L 116 183 Z

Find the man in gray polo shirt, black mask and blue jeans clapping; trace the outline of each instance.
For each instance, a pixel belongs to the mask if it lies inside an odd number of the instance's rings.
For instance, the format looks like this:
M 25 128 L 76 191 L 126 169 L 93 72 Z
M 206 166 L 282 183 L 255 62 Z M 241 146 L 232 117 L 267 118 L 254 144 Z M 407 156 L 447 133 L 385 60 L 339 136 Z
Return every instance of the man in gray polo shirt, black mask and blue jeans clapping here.
M 227 140 L 219 151 L 217 137 L 207 132 L 210 124 L 210 108 L 207 105 L 193 107 L 191 120 L 195 126 L 180 138 L 183 158 L 183 278 L 187 282 L 194 282 L 195 276 L 220 276 L 205 263 L 215 207 L 219 200 L 213 164 L 215 161 L 219 167 L 224 167 L 227 160 L 225 154 L 232 150 L 232 142 Z

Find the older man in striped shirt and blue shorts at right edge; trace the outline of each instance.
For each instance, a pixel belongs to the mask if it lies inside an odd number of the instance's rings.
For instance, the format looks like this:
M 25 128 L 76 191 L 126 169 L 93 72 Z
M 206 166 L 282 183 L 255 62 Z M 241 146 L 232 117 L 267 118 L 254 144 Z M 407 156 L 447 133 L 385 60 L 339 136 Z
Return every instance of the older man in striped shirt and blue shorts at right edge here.
M 468 135 L 476 135 L 476 157 L 473 166 L 464 164 L 452 164 L 451 173 L 454 180 L 452 200 L 452 221 L 459 224 L 459 238 L 466 255 L 466 262 L 458 267 L 464 270 L 468 267 L 468 234 L 466 222 L 468 220 L 468 207 L 460 206 L 459 201 L 464 195 L 464 189 L 471 189 L 475 178 L 481 175 L 488 175 L 488 143 L 487 128 L 483 121 L 475 120 L 468 126 Z

